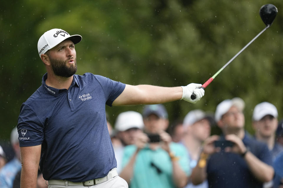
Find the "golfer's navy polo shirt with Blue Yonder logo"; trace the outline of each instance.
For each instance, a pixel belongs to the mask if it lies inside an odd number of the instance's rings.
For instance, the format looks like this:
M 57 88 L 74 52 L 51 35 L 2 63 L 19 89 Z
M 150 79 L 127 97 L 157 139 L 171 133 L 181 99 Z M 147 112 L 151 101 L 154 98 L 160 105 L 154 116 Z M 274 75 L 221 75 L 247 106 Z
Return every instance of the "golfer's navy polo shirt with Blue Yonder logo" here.
M 22 104 L 18 118 L 20 147 L 41 145 L 40 170 L 46 180 L 83 182 L 105 177 L 117 166 L 106 124 L 125 84 L 85 73 L 70 88 L 42 85 Z

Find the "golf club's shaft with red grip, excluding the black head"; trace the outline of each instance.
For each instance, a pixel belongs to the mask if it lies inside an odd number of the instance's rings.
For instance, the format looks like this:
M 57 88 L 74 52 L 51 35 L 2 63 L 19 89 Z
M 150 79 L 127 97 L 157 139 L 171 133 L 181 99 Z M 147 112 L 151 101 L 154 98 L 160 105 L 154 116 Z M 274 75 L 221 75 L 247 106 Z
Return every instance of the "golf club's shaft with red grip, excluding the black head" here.
M 221 69 L 219 69 L 217 71 L 217 73 L 215 73 L 211 78 L 209 78 L 202 86 L 201 88 L 204 89 L 206 88 L 206 86 L 208 86 L 213 80 L 214 78 L 224 69 L 226 68 L 238 55 L 240 55 L 240 53 L 242 53 L 252 42 L 254 42 L 254 40 L 256 40 L 256 38 L 258 38 L 261 33 L 263 33 L 267 28 L 269 28 L 270 25 L 267 25 L 259 34 L 257 34 L 246 46 L 244 46 L 233 58 L 231 58 Z M 196 98 L 195 94 L 193 93 L 191 95 L 191 99 L 194 100 Z

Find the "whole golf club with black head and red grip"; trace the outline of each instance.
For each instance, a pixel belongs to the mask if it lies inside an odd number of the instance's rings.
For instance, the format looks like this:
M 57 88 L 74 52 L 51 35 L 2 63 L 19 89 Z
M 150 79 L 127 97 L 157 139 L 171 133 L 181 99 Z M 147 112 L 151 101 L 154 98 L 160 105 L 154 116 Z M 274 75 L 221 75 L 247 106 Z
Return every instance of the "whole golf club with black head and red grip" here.
M 272 22 L 274 21 L 277 12 L 278 12 L 277 8 L 272 4 L 266 4 L 261 6 L 261 8 L 259 9 L 259 15 L 262 21 L 264 22 L 264 24 L 266 25 L 266 27 L 257 36 L 255 36 L 245 47 L 243 47 L 232 59 L 230 59 L 230 61 L 228 61 L 220 70 L 218 70 L 217 73 L 215 73 L 211 78 L 209 78 L 201 86 L 202 89 L 206 88 L 206 86 L 208 86 L 224 68 L 226 68 L 240 53 L 242 53 L 242 51 L 244 51 L 252 42 L 254 42 L 254 40 L 256 40 L 256 38 L 258 38 L 261 35 L 261 33 L 263 33 L 267 28 L 269 28 L 272 25 Z M 193 93 L 191 95 L 191 99 L 194 100 L 195 98 L 196 96 Z

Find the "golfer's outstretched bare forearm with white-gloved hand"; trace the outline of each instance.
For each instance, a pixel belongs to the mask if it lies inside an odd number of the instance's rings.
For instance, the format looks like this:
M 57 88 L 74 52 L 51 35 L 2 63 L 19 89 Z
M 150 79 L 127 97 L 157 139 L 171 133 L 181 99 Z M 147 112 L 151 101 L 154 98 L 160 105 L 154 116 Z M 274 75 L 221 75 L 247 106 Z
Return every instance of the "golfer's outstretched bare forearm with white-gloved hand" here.
M 204 90 L 199 89 L 200 87 L 201 84 L 195 83 L 182 87 L 126 85 L 124 91 L 113 101 L 112 105 L 161 104 L 180 99 L 196 103 L 204 95 Z M 190 99 L 193 92 L 196 94 L 195 100 Z

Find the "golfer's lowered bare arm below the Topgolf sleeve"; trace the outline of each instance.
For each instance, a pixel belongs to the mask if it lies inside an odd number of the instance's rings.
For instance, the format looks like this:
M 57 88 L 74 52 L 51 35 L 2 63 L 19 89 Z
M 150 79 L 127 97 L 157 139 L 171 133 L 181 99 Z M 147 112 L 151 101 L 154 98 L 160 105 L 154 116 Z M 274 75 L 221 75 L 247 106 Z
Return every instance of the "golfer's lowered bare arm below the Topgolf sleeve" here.
M 41 145 L 20 147 L 20 150 L 22 160 L 21 188 L 36 188 Z

